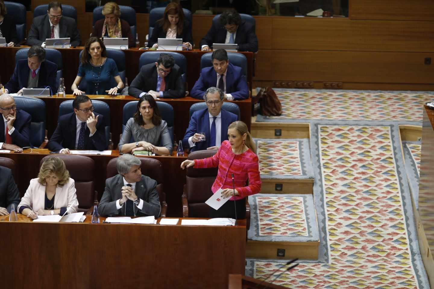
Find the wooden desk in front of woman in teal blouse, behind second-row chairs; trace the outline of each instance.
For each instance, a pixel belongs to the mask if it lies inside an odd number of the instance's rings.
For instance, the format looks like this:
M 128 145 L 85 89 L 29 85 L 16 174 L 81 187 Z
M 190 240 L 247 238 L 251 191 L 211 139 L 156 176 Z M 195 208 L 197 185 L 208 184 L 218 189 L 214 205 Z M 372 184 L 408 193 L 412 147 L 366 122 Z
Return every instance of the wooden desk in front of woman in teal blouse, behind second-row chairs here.
M 104 101 L 109 104 L 110 107 L 110 125 L 112 129 L 112 140 L 114 148 L 118 146 L 119 134 L 122 133 L 122 110 L 124 105 L 129 101 L 137 101 L 138 99 L 129 95 L 89 95 L 90 98 Z M 46 104 L 47 111 L 47 123 L 46 129 L 48 130 L 48 137 L 50 137 L 57 126 L 57 120 L 59 117 L 59 105 L 63 101 L 68 99 L 74 99 L 72 94 L 67 94 L 66 97 L 39 97 Z M 174 109 L 175 114 L 175 126 L 174 133 L 176 135 L 175 140 L 182 140 L 185 131 L 187 130 L 188 123 L 190 121 L 189 110 L 190 106 L 194 103 L 201 102 L 193 97 L 183 98 L 161 98 L 158 101 L 164 101 L 170 104 Z M 250 123 L 252 119 L 251 110 L 251 98 L 242 101 L 228 101 L 237 104 L 240 107 L 241 120 L 247 124 L 247 128 L 250 130 Z M 177 142 L 178 143 L 178 142 Z

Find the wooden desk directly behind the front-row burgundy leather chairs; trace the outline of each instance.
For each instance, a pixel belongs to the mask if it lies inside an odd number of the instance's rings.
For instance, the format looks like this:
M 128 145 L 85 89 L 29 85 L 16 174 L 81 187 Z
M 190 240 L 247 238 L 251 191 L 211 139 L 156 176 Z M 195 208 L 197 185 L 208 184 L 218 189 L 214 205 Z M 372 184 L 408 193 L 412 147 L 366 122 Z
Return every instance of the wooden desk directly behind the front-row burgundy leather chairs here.
M 14 175 L 15 182 L 20 191 L 21 197 L 25 194 L 29 186 L 30 179 L 37 177 L 39 173 L 39 162 L 44 156 L 56 156 L 50 154 L 49 149 L 24 149 L 23 153 L 0 153 L 1 157 L 13 159 L 16 163 L 17 174 Z M 187 159 L 187 153 L 184 156 L 140 156 L 158 159 L 164 169 L 164 192 L 166 193 L 166 202 L 168 204 L 167 215 L 169 217 L 182 216 L 182 201 L 186 172 L 181 169 L 181 162 Z M 118 150 L 113 150 L 112 155 L 85 155 L 95 161 L 95 190 L 98 192 L 98 200 L 101 199 L 105 188 L 106 168 L 110 159 L 119 156 Z

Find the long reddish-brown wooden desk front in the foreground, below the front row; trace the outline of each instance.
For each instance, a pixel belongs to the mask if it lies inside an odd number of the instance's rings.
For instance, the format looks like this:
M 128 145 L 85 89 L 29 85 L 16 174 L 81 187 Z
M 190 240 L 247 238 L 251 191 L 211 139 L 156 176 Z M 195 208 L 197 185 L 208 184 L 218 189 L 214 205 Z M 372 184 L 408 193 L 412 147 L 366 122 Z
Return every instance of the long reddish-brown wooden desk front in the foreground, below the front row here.
M 244 274 L 245 220 L 220 227 L 91 224 L 90 217 L 0 221 L 3 288 L 223 289 L 229 274 Z

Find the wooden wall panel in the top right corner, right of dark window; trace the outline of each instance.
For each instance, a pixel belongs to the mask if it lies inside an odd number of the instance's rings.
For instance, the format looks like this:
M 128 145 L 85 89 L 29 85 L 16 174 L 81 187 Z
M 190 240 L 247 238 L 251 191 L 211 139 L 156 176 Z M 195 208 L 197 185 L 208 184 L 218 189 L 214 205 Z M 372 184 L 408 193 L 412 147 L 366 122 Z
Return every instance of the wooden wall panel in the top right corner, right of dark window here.
M 432 0 L 350 0 L 350 19 L 434 21 Z

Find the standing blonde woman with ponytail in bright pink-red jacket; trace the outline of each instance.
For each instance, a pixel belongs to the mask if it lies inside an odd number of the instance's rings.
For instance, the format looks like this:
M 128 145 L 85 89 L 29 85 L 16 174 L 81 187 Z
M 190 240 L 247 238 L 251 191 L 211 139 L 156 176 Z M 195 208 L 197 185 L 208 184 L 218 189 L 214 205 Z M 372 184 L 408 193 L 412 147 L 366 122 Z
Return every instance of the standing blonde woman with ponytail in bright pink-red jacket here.
M 259 175 L 259 161 L 254 153 L 255 144 L 242 121 L 234 121 L 227 128 L 228 140 L 225 140 L 218 152 L 206 159 L 185 160 L 181 169 L 191 166 L 194 168 L 218 167 L 217 178 L 211 187 L 213 194 L 222 188 L 222 197 L 230 198 L 218 210 L 210 208 L 211 218 L 235 218 L 234 205 L 237 208 L 237 218 L 246 218 L 245 197 L 257 194 L 261 190 Z M 232 183 L 232 174 L 235 184 L 235 195 Z M 246 186 L 246 181 L 249 185 Z

